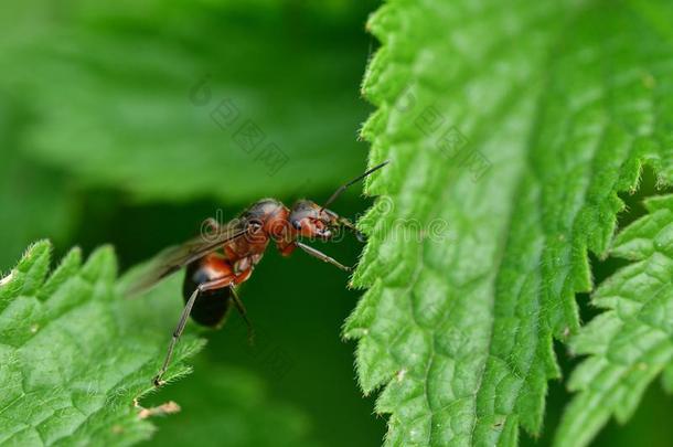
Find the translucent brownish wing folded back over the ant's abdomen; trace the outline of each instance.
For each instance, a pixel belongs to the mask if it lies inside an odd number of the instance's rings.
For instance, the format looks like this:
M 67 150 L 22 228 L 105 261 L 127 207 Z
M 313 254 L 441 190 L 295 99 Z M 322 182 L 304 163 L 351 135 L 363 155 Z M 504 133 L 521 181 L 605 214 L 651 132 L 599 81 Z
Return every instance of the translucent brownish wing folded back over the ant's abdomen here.
M 188 264 L 215 252 L 223 244 L 244 236 L 246 233 L 248 233 L 248 227 L 245 221 L 235 219 L 228 224 L 217 227 L 216 234 L 194 237 L 182 245 L 169 247 L 150 260 L 140 274 L 133 275 L 130 284 L 124 289 L 131 296 L 140 294 Z

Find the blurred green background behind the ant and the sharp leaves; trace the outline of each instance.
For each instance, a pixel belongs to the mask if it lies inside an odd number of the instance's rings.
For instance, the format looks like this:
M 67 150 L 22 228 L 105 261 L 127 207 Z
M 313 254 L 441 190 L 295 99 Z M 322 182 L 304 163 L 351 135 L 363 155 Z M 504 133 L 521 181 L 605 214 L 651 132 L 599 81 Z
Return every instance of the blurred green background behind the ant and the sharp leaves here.
M 364 23 L 377 6 L 3 3 L 0 270 L 42 237 L 57 255 L 111 243 L 126 269 L 191 237 L 204 219 L 231 219 L 261 196 L 324 200 L 366 163 L 356 134 L 371 108 L 359 87 L 376 46 Z M 235 123 L 213 118 L 232 107 Z M 254 138 L 236 134 L 244 125 Z M 650 181 L 641 194 L 653 191 Z M 629 198 L 629 219 L 642 213 L 639 200 Z M 351 191 L 334 207 L 355 216 L 367 203 Z M 324 249 L 354 264 L 361 244 L 346 238 Z M 597 277 L 616 266 L 601 264 Z M 195 373 L 145 403 L 182 406 L 157 419 L 150 444 L 380 445 L 385 421 L 357 390 L 354 345 L 340 340 L 359 297 L 346 283 L 301 254 L 269 251 L 243 290 L 257 347 L 247 345 L 236 316 L 206 332 Z M 179 288 L 167 299 L 180 300 Z M 567 372 L 574 361 L 563 360 Z M 523 435 L 524 444 L 547 444 L 566 397 L 551 385 L 545 436 Z M 670 445 L 669 406 L 652 390 L 629 426 L 611 424 L 597 444 Z

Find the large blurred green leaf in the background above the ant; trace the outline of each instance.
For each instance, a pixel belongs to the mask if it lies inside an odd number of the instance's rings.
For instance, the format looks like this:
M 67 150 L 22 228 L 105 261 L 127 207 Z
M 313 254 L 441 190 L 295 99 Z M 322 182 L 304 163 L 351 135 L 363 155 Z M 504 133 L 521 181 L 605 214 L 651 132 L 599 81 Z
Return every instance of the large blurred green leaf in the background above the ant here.
M 46 3 L 9 6 L 0 43 L 34 159 L 140 200 L 302 194 L 361 169 L 366 6 Z

